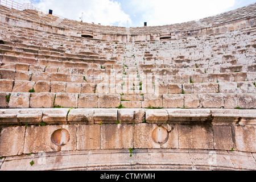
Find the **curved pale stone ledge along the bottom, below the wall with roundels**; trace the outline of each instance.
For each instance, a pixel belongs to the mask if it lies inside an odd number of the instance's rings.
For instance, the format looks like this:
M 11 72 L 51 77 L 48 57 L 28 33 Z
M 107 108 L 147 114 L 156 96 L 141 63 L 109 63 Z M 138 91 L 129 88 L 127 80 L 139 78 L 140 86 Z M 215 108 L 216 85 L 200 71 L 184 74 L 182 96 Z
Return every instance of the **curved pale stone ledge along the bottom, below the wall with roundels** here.
M 1 171 L 43 170 L 255 170 L 255 153 L 225 150 L 135 149 L 46 152 L 6 157 Z M 45 156 L 45 158 L 43 158 Z M 31 166 L 30 162 L 34 161 Z

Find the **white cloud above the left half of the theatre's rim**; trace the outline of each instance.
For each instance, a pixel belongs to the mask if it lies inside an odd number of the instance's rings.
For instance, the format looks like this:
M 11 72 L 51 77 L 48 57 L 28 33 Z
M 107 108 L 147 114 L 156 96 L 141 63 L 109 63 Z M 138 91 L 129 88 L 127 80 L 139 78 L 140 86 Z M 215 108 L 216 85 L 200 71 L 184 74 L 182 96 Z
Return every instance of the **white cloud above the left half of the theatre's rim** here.
M 34 3 L 39 9 L 53 10 L 53 14 L 68 19 L 80 20 L 83 12 L 83 21 L 87 23 L 101 23 L 102 25 L 126 26 L 130 16 L 121 9 L 121 4 L 110 0 L 41 0 Z

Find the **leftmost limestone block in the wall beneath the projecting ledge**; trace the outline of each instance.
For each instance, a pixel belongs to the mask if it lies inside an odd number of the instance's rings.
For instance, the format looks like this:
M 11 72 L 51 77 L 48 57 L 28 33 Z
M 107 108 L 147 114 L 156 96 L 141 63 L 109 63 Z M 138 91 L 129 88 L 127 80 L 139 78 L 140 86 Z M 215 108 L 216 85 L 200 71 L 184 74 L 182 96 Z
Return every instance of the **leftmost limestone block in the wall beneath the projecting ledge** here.
M 23 154 L 24 126 L 5 127 L 0 134 L 0 156 Z

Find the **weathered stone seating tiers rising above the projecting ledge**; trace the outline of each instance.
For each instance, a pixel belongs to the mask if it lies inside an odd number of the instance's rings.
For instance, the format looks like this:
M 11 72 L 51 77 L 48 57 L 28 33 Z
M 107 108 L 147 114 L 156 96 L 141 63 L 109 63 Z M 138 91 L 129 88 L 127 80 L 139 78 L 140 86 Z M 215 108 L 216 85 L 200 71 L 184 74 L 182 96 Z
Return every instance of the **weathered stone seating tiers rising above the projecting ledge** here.
M 255 7 L 205 22 L 214 26 L 251 17 Z M 44 30 L 51 25 L 126 34 L 122 27 L 3 6 L 0 16 L 0 107 L 256 108 L 255 17 L 222 32 L 126 42 Z M 23 20 L 28 24 L 19 23 Z M 42 29 L 30 26 L 36 23 Z M 183 30 L 195 28 L 189 24 Z M 165 31 L 146 27 L 142 34 L 150 34 L 147 30 Z

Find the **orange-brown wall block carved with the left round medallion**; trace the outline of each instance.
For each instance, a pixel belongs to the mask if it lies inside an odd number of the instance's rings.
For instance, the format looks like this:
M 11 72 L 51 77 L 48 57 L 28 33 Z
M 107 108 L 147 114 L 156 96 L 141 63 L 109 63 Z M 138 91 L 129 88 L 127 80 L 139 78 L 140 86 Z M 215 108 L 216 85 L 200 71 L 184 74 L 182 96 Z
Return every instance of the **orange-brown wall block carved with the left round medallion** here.
M 58 135 L 53 135 L 59 130 Z M 75 125 L 27 126 L 24 154 L 76 150 Z M 55 143 L 54 143 L 55 142 Z M 60 145 L 57 145 L 61 142 Z

